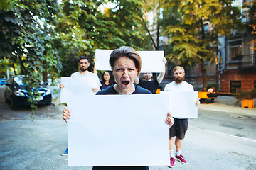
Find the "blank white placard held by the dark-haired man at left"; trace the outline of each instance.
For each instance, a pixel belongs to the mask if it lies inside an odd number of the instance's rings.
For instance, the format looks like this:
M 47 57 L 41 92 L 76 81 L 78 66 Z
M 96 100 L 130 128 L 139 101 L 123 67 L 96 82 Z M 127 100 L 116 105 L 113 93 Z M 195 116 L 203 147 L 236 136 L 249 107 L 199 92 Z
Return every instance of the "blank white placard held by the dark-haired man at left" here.
M 79 79 L 73 77 L 60 77 L 64 88 L 60 90 L 60 103 L 67 103 L 71 95 L 83 95 L 84 97 L 95 95 L 92 88 L 97 87 L 97 77 Z

